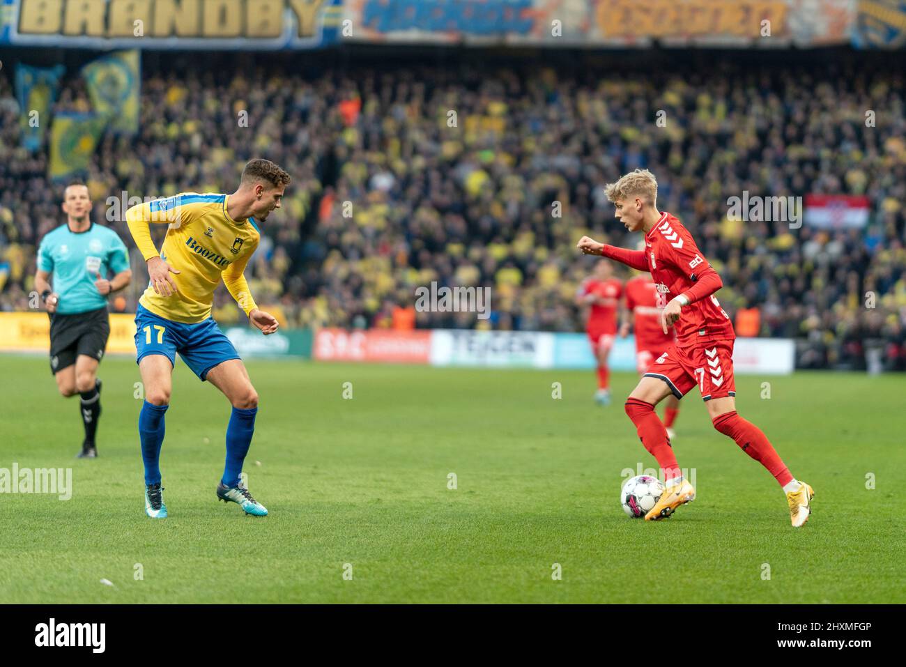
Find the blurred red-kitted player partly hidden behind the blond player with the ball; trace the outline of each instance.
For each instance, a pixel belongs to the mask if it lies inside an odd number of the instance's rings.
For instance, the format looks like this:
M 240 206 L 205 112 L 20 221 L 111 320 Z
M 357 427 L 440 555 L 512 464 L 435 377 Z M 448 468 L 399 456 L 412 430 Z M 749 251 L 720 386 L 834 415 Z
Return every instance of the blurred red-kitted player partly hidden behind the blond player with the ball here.
M 641 247 L 645 247 L 642 242 Z M 604 262 L 602 262 L 604 264 Z M 651 363 L 670 349 L 675 340 L 673 328 L 664 333 L 660 326 L 660 312 L 667 305 L 658 292 L 651 274 L 640 273 L 626 281 L 626 309 L 632 314 L 632 328 L 635 330 L 635 364 L 640 375 L 651 370 Z M 620 327 L 620 336 L 629 334 L 629 319 Z M 672 393 L 664 403 L 664 428 L 667 437 L 673 441 L 673 422 L 679 414 L 679 399 Z

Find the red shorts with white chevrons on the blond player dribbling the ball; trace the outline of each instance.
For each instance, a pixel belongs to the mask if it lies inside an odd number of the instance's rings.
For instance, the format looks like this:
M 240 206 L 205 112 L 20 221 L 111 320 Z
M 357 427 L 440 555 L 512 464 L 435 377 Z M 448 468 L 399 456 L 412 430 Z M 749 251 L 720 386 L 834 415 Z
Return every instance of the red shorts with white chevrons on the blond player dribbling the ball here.
M 670 345 L 644 376 L 667 382 L 678 399 L 696 384 L 705 401 L 736 396 L 733 341 L 711 341 L 688 347 Z

